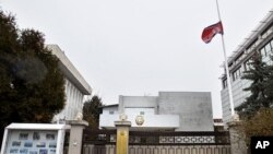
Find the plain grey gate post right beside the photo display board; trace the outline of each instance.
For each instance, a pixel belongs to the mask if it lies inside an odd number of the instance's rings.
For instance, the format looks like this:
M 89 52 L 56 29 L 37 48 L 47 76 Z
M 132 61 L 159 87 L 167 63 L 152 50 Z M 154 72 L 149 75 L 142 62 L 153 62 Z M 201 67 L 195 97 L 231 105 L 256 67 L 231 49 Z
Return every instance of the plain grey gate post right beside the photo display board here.
M 71 120 L 69 121 L 70 139 L 69 139 L 69 154 L 81 154 L 82 152 L 82 139 L 83 130 L 88 126 L 88 122 L 84 120 Z

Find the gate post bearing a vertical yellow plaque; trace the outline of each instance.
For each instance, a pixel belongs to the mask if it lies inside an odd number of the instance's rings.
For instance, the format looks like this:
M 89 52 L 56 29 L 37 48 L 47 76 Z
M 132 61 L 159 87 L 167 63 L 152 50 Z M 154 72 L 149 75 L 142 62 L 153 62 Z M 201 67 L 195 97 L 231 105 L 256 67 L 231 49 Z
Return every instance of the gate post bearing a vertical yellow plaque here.
M 121 119 L 120 121 L 115 121 L 115 126 L 117 128 L 116 154 L 128 154 L 129 128 L 131 127 L 131 121 Z

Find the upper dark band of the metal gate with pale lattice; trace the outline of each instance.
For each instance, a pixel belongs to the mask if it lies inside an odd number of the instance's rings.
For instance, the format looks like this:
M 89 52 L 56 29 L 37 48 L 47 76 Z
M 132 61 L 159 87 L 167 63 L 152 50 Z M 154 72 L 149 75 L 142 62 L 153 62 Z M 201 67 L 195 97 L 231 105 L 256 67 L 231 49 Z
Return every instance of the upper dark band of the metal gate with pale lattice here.
M 83 142 L 88 144 L 116 144 L 116 130 L 88 130 L 84 131 Z M 130 145 L 228 145 L 228 131 L 130 131 Z

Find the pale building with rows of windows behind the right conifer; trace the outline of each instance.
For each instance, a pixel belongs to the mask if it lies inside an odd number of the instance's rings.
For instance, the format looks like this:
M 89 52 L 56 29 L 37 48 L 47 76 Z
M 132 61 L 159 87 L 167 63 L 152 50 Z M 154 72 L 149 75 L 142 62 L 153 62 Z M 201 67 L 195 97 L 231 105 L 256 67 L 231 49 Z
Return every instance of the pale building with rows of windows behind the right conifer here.
M 254 54 L 260 54 L 268 64 L 273 62 L 270 55 L 273 52 L 273 9 L 260 22 L 254 31 L 237 47 L 234 54 L 228 58 L 228 69 L 230 73 L 234 107 L 241 105 L 250 92 L 244 91 L 251 84 L 251 81 L 242 80 L 244 71 L 249 69 L 249 62 Z M 224 69 L 224 72 L 225 69 Z M 223 121 L 226 125 L 232 118 L 230 104 L 228 97 L 226 73 L 221 76 L 222 80 L 222 109 Z

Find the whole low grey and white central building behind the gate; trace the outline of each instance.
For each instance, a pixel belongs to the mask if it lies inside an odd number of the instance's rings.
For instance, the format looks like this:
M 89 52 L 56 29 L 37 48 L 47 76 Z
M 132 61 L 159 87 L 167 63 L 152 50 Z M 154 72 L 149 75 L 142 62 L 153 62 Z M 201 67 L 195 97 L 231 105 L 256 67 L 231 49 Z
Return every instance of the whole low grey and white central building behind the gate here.
M 159 92 L 158 96 L 119 96 L 118 105 L 105 106 L 99 128 L 115 129 L 114 121 L 126 115 L 131 130 L 213 131 L 209 92 Z M 139 117 L 144 119 L 138 125 Z

